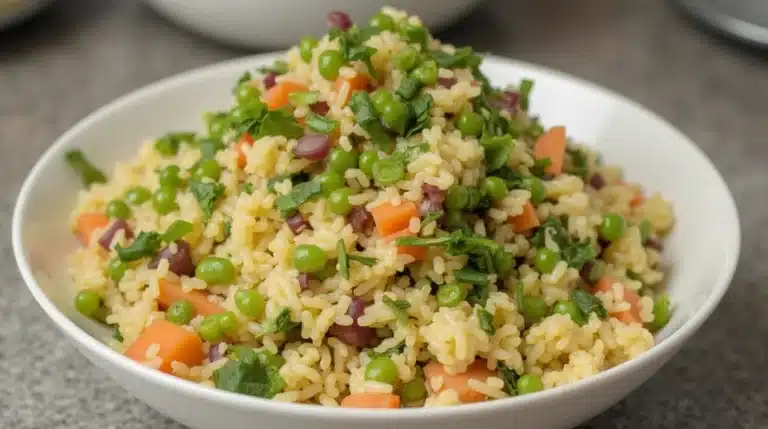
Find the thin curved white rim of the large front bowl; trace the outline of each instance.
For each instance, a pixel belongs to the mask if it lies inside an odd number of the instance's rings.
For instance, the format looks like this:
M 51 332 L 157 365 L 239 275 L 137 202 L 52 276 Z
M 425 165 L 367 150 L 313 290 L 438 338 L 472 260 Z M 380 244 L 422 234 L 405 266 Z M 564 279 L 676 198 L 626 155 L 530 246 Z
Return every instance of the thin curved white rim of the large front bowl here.
M 53 320 L 58 328 L 67 334 L 71 341 L 75 342 L 79 346 L 78 349 L 80 347 L 84 347 L 99 359 L 106 360 L 110 362 L 110 364 L 119 367 L 121 370 L 132 373 L 135 377 L 142 379 L 142 381 L 146 383 L 159 384 L 166 389 L 182 391 L 184 395 L 194 397 L 195 399 L 213 401 L 221 405 L 234 406 L 245 410 L 262 411 L 277 415 L 301 414 L 303 416 L 320 419 L 354 420 L 358 418 L 365 418 L 383 421 L 385 419 L 391 419 L 393 416 L 396 416 L 398 419 L 402 419 L 402 421 L 414 421 L 424 418 L 451 418 L 462 415 L 466 416 L 468 414 L 491 412 L 493 410 L 497 410 L 499 408 L 513 404 L 522 407 L 535 401 L 556 400 L 557 398 L 564 397 L 578 390 L 586 390 L 589 387 L 596 387 L 596 385 L 610 384 L 611 382 L 620 379 L 621 377 L 633 372 L 634 370 L 649 364 L 653 360 L 663 359 L 664 356 L 668 354 L 668 351 L 673 352 L 675 351 L 675 347 L 682 346 L 683 343 L 688 338 L 690 338 L 691 335 L 693 335 L 693 333 L 696 332 L 698 328 L 703 324 L 703 322 L 709 317 L 709 315 L 722 299 L 723 295 L 728 290 L 738 264 L 741 250 L 741 228 L 738 210 L 733 199 L 733 195 L 731 194 L 722 175 L 711 162 L 711 160 L 696 144 L 694 144 L 686 135 L 684 135 L 681 131 L 672 126 L 668 121 L 666 121 L 658 114 L 614 91 L 584 79 L 572 76 L 570 74 L 551 69 L 549 67 L 494 55 L 487 55 L 484 61 L 486 64 L 493 67 L 514 68 L 517 70 L 528 71 L 536 75 L 547 75 L 548 77 L 556 78 L 559 80 L 566 80 L 573 85 L 582 86 L 591 92 L 599 93 L 602 97 L 608 97 L 620 101 L 628 107 L 648 115 L 650 119 L 668 128 L 669 131 L 675 135 L 676 139 L 680 141 L 680 144 L 687 146 L 687 149 L 691 151 L 691 156 L 698 157 L 699 161 L 703 161 L 704 164 L 709 167 L 711 173 L 715 175 L 715 178 L 718 181 L 718 187 L 720 188 L 719 191 L 723 194 L 724 197 L 723 202 L 727 205 L 727 207 L 724 207 L 724 214 L 725 219 L 729 221 L 725 227 L 731 230 L 729 234 L 726 234 L 726 236 L 731 238 L 727 242 L 727 244 L 730 245 L 730 248 L 726 248 L 727 257 L 723 262 L 724 265 L 723 269 L 720 271 L 720 276 L 713 280 L 715 282 L 715 287 L 713 288 L 711 294 L 707 297 L 704 304 L 699 307 L 677 330 L 672 332 L 669 337 L 664 339 L 664 341 L 661 341 L 659 344 L 654 345 L 650 350 L 642 353 L 638 357 L 628 362 L 622 363 L 621 365 L 607 369 L 603 372 L 583 380 L 567 384 L 565 386 L 547 389 L 541 392 L 523 396 L 515 396 L 474 404 L 462 404 L 460 406 L 404 408 L 399 409 L 396 414 L 393 414 L 391 410 L 369 410 L 352 408 L 339 409 L 336 407 L 285 403 L 271 399 L 255 398 L 203 386 L 201 384 L 165 374 L 134 362 L 133 360 L 116 352 L 106 344 L 92 337 L 87 332 L 78 327 L 55 306 L 55 304 L 40 288 L 40 285 L 38 284 L 35 275 L 27 261 L 26 252 L 22 242 L 22 219 L 24 218 L 26 212 L 27 200 L 29 199 L 31 189 L 35 186 L 38 180 L 38 176 L 41 174 L 43 169 L 45 169 L 45 167 L 54 159 L 58 159 L 61 153 L 68 149 L 67 142 L 76 138 L 76 136 L 83 130 L 87 129 L 98 121 L 109 117 L 113 114 L 114 111 L 139 102 L 141 99 L 151 95 L 154 92 L 162 91 L 168 87 L 184 86 L 189 82 L 197 80 L 201 75 L 216 75 L 218 73 L 226 72 L 238 67 L 252 68 L 256 64 L 272 61 L 280 54 L 280 52 L 272 52 L 252 55 L 191 69 L 182 73 L 171 75 L 149 85 L 143 86 L 137 90 L 131 91 L 125 95 L 122 95 L 110 103 L 100 107 L 96 111 L 90 113 L 84 119 L 80 120 L 77 124 L 67 130 L 64 134 L 62 134 L 42 154 L 42 156 L 35 163 L 34 167 L 27 174 L 27 177 L 25 178 L 19 191 L 16 205 L 13 211 L 11 234 L 13 253 L 16 259 L 16 264 L 18 265 L 24 283 L 26 284 L 32 296 L 37 301 L 38 305 L 40 305 L 43 311 L 48 315 L 50 319 Z

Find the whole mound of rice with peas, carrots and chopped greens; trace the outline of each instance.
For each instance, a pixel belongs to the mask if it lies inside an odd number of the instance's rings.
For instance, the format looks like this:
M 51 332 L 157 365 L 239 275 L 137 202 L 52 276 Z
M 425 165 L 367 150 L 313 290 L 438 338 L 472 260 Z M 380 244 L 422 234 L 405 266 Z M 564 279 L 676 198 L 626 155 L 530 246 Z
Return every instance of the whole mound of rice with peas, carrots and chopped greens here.
M 383 9 L 245 73 L 204 132 L 111 177 L 73 151 L 76 308 L 204 385 L 327 406 L 443 406 L 571 383 L 669 320 L 659 195 Z M 178 130 L 176 130 L 178 131 Z

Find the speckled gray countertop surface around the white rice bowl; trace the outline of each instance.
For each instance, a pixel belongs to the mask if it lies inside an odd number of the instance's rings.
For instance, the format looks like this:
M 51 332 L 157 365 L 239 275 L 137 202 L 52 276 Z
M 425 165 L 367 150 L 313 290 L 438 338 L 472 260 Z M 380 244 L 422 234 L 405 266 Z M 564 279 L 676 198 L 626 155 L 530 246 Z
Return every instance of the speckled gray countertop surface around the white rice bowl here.
M 768 427 L 766 53 L 701 31 L 662 0 L 491 1 L 441 36 L 639 101 L 691 136 L 736 197 L 745 233 L 730 292 L 664 369 L 583 428 Z M 26 172 L 80 118 L 159 78 L 245 54 L 134 1 L 60 0 L 0 33 L 0 427 L 180 427 L 130 398 L 47 320 L 16 270 L 10 216 Z

